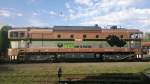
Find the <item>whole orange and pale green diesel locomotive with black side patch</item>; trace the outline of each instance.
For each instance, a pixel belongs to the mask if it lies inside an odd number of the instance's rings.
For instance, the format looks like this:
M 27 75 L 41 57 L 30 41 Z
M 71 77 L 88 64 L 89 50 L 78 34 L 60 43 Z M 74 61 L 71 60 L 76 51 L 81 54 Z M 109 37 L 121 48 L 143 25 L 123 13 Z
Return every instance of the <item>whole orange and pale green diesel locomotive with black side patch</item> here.
M 142 32 L 113 26 L 12 28 L 8 31 L 11 61 L 105 61 L 142 57 Z

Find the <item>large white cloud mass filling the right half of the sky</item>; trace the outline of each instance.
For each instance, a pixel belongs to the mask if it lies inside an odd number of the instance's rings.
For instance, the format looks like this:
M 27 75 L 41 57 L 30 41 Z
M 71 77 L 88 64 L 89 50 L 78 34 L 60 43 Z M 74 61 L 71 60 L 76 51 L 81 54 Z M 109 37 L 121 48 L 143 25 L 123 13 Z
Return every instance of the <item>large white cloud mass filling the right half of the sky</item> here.
M 150 26 L 150 8 L 140 8 L 146 0 L 74 0 L 68 8 L 68 19 L 80 25 Z M 91 5 L 89 5 L 92 3 Z M 71 3 L 68 3 L 69 5 Z M 72 12 L 73 11 L 73 12 Z

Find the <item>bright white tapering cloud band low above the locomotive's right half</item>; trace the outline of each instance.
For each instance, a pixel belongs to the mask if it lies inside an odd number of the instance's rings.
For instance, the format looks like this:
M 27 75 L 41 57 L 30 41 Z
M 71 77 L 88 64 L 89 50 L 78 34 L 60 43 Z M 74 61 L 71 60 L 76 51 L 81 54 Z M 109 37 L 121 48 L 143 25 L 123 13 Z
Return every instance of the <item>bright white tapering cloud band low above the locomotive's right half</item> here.
M 145 19 L 150 19 L 150 9 L 136 9 L 130 8 L 122 11 L 111 12 L 102 16 L 95 16 L 84 20 L 85 23 L 122 23 L 125 21 L 145 21 Z

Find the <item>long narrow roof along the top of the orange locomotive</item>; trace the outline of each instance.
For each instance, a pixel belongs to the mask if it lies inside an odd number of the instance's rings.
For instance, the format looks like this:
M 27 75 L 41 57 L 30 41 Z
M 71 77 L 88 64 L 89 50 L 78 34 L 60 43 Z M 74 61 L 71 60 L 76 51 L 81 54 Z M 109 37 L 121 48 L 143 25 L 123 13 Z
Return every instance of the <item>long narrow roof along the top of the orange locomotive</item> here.
M 99 26 L 54 26 L 54 27 L 13 27 L 12 30 L 51 30 L 51 31 L 102 31 L 102 32 L 141 32 L 138 29 L 125 29 L 125 28 L 117 28 L 117 29 L 102 29 Z M 141 32 L 142 33 L 142 32 Z

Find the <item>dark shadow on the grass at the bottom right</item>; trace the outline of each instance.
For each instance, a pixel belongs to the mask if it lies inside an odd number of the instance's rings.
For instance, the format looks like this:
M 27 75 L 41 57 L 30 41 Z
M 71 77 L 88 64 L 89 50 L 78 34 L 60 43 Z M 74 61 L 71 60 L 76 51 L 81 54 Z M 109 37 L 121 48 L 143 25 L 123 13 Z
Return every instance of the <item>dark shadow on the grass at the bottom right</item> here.
M 103 73 L 99 75 L 66 77 L 60 84 L 149 84 L 150 78 L 143 73 Z

